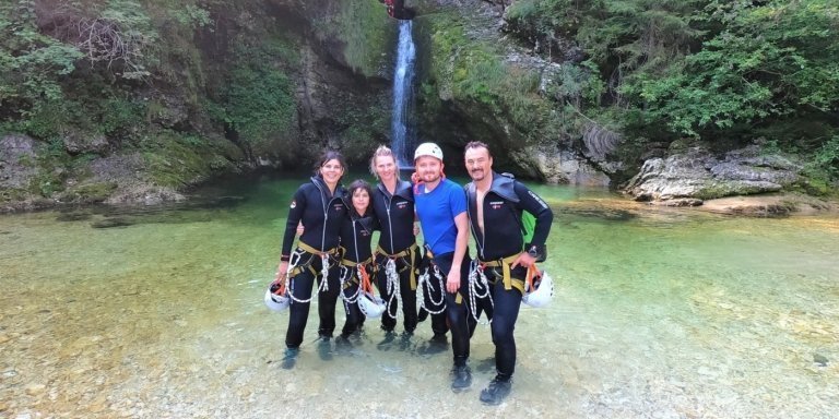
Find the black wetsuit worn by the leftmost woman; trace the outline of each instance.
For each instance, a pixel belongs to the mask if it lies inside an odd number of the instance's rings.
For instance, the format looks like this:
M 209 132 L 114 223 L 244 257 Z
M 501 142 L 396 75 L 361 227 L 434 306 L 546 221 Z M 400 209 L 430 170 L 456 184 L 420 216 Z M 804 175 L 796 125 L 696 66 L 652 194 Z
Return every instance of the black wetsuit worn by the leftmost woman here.
M 294 193 L 281 256 L 282 261 L 289 260 L 297 224 L 302 222 L 304 232 L 295 251 L 295 255 L 299 258 L 291 261 L 296 267 L 292 272 L 288 287 L 288 291 L 294 296 L 285 335 L 285 345 L 289 348 L 297 348 L 303 343 L 303 332 L 309 316 L 309 302 L 298 302 L 294 299 L 308 300 L 316 278 L 318 284 L 326 279 L 329 286 L 327 291 L 318 294 L 318 335 L 331 337 L 335 330 L 335 303 L 340 286 L 340 270 L 336 263 L 339 232 L 346 217 L 346 205 L 342 201 L 344 194 L 341 185 L 335 188 L 334 194 L 330 194 L 329 188 L 320 177 L 312 177 L 311 182 L 304 183 Z M 321 275 L 322 260 L 317 253 L 328 253 L 327 278 Z

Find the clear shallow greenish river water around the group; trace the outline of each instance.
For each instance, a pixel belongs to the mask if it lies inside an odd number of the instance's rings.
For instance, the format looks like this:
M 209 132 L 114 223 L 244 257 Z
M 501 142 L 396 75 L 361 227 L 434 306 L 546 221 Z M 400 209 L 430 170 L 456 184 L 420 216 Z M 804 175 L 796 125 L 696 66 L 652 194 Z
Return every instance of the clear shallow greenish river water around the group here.
M 263 180 L 187 205 L 0 216 L 0 418 L 834 418 L 839 218 L 662 210 L 537 187 L 555 211 L 552 306 L 523 307 L 513 392 L 486 323 L 474 382 L 422 323 L 318 348 L 310 311 L 281 368 L 287 313 L 262 303 L 291 194 Z M 338 310 L 343 323 L 343 310 Z M 400 319 L 401 323 L 401 319 Z M 401 326 L 400 326 L 401 327 Z

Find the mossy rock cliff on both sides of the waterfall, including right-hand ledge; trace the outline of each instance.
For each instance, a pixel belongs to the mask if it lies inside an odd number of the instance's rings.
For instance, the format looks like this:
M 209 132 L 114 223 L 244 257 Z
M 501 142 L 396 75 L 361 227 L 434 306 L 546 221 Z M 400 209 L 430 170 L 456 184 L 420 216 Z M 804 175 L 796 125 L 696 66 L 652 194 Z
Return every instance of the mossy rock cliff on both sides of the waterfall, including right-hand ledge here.
M 566 65 L 584 56 L 574 43 L 557 40 L 565 46 L 559 57 L 542 57 L 505 32 L 497 3 L 405 3 L 416 12 L 413 128 L 418 141 L 442 146 L 449 167 L 461 167 L 463 146 L 480 140 L 497 170 L 554 183 L 617 188 L 646 160 L 622 185 L 638 201 L 698 205 L 807 189 L 802 163 L 756 145 L 710 152 L 664 144 L 624 161 L 621 132 L 568 106 L 575 77 L 584 76 Z M 0 208 L 180 200 L 179 191 L 221 173 L 308 166 L 326 147 L 364 167 L 376 145 L 390 143 L 398 23 L 382 2 L 249 0 L 209 8 L 212 26 L 167 38 L 188 50 L 172 52 L 169 73 L 123 92 L 134 100 L 127 108 L 133 124 L 68 127 L 49 139 L 0 132 Z M 265 69 L 287 83 L 292 103 L 281 115 L 287 123 L 257 140 L 259 122 L 249 116 L 261 109 L 247 108 L 249 99 L 283 98 L 260 89 Z M 253 85 L 232 88 L 243 81 Z M 236 106 L 245 110 L 235 115 Z

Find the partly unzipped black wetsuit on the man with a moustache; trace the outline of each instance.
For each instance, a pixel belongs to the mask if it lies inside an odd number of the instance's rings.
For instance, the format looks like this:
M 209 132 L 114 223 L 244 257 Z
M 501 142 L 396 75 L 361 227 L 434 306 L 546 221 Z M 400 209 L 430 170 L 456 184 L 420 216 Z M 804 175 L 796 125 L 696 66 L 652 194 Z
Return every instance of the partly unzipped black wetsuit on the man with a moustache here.
M 493 343 L 498 379 L 507 381 L 512 376 L 516 368 L 516 339 L 512 332 L 519 315 L 528 270 L 524 266 L 517 266 L 509 271 L 509 278 L 505 278 L 503 265 L 509 265 L 523 249 L 533 246 L 544 253 L 544 244 L 551 231 L 554 214 L 541 197 L 521 182 L 495 171 L 492 176 L 493 183 L 484 195 L 483 202 L 483 232 L 477 220 L 475 185 L 469 183 L 465 188 L 470 227 L 477 244 L 478 261 L 496 265 L 484 268 L 492 288 L 494 309 L 489 310 L 486 304 L 483 304 L 483 308 L 493 320 Z M 521 231 L 522 211 L 536 217 L 533 239 L 527 244 L 523 242 Z

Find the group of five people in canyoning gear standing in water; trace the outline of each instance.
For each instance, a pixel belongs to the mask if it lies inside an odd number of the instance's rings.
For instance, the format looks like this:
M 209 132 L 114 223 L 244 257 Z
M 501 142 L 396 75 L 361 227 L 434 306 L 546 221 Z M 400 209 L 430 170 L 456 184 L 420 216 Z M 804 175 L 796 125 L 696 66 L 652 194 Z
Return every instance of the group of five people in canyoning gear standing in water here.
M 531 276 L 535 262 L 544 258 L 553 213 L 524 184 L 493 170 L 486 144 L 466 144 L 464 163 L 472 181 L 462 187 L 444 175 L 440 147 L 424 143 L 414 153 L 415 171 L 407 181 L 400 179 L 391 149 L 379 146 L 370 159 L 379 183 L 355 180 L 344 188 L 343 157 L 338 152 L 323 155 L 316 176 L 294 194 L 271 286 L 273 295 L 287 299 L 289 309 L 286 364 L 293 366 L 298 356 L 316 284 L 322 343 L 333 336 L 339 296 L 346 320 L 338 339 L 361 331 L 366 318 L 362 302 L 375 284 L 386 336 L 395 334 L 400 309 L 403 338 L 410 338 L 427 316 L 433 343 L 445 344 L 451 332 L 454 392 L 472 385 L 470 338 L 480 315 L 486 315 L 497 374 L 480 398 L 489 405 L 504 400 L 516 364 L 516 320 L 522 297 L 537 287 Z M 535 217 L 527 243 L 522 212 Z M 415 239 L 417 220 L 422 247 Z M 375 230 L 380 234 L 374 250 Z M 477 247 L 474 260 L 468 250 L 470 230 Z

